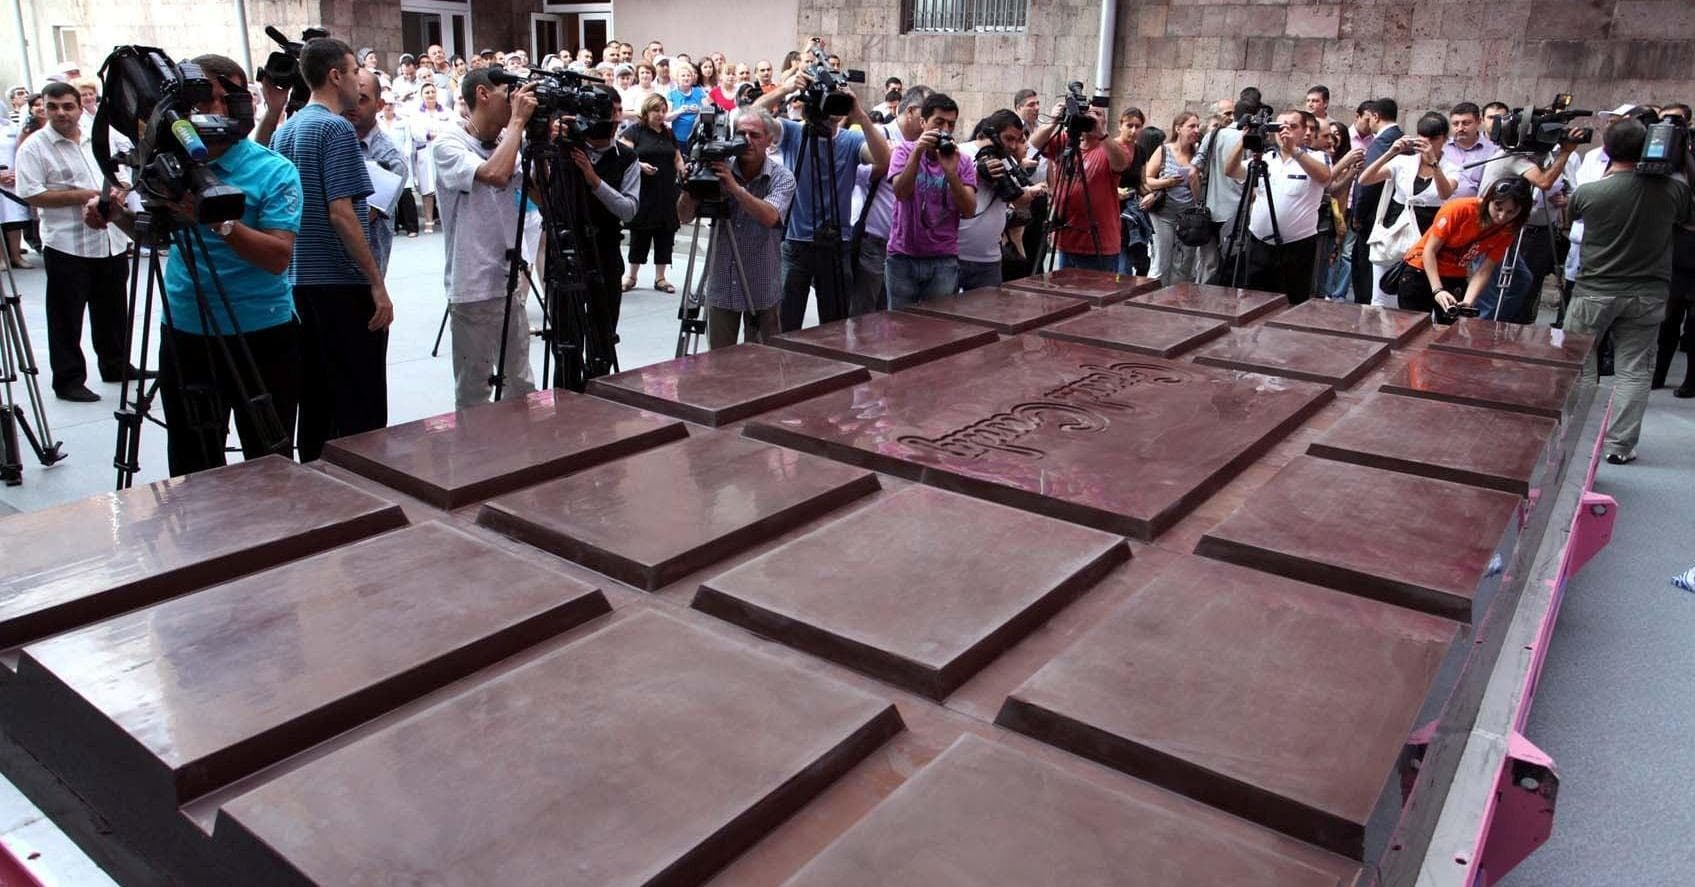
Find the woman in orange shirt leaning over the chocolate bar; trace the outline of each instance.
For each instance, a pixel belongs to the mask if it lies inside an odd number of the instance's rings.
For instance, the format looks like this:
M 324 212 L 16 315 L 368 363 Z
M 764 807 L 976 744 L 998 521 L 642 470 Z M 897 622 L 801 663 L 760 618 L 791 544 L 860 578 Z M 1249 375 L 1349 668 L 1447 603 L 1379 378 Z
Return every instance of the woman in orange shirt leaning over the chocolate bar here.
M 1475 305 L 1529 215 L 1531 183 L 1524 176 L 1500 178 L 1483 197 L 1449 200 L 1407 251 L 1400 307 L 1451 312 Z

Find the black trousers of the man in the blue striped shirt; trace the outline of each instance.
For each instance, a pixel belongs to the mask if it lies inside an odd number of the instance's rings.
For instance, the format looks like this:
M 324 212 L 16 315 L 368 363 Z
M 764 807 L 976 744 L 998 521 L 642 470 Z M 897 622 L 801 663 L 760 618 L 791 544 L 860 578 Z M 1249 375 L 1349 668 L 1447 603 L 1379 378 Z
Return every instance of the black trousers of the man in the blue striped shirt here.
M 371 287 L 295 287 L 300 314 L 300 461 L 324 443 L 388 426 L 388 331 L 370 331 Z

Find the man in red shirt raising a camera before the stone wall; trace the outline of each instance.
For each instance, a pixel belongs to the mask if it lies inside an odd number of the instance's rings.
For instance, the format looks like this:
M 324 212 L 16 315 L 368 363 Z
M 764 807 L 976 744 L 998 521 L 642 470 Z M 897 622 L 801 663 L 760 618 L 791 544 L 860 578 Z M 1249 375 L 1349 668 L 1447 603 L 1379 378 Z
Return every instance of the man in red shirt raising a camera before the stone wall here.
M 1063 165 L 1053 161 L 1064 156 L 1073 139 L 1083 161 L 1080 175 L 1053 198 L 1053 217 L 1059 224 L 1056 266 L 1117 271 L 1124 237 L 1119 227 L 1119 176 L 1131 166 L 1131 153 L 1119 139 L 1109 137 L 1107 109 L 1086 103 L 1080 114 L 1086 114 L 1092 124 L 1078 129 L 1081 120 L 1066 120 L 1066 102 L 1054 103 L 1053 117 L 1031 134 L 1031 146 L 1051 161 L 1049 178 L 1063 178 Z

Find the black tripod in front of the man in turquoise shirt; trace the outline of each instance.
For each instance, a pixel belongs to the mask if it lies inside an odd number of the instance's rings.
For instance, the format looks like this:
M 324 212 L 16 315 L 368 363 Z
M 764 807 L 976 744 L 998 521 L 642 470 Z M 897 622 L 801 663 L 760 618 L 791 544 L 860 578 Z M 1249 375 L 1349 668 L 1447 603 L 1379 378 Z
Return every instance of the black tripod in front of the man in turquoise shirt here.
M 161 427 L 164 422 L 149 416 L 153 399 L 159 392 L 159 380 L 154 378 L 153 385 L 146 385 L 146 366 L 147 366 L 147 349 L 153 338 L 153 300 L 154 293 L 159 297 L 159 307 L 164 315 L 166 329 L 181 329 L 176 326 L 171 315 L 171 302 L 164 295 L 164 268 L 161 263 L 163 251 L 166 246 L 175 246 L 178 251 L 178 261 L 188 273 L 188 280 L 195 290 L 195 310 L 200 321 L 200 338 L 205 339 L 207 348 L 207 366 L 212 371 L 212 382 L 203 385 L 190 385 L 178 373 L 176 378 L 176 395 L 181 399 L 183 414 L 188 421 L 188 431 L 195 434 L 202 446 L 212 446 L 208 443 L 214 436 L 227 434 L 225 404 L 222 400 L 219 385 L 219 368 L 229 373 L 232 385 L 236 388 L 237 399 L 241 400 L 239 409 L 246 416 L 247 424 L 258 436 L 259 446 L 247 446 L 247 451 L 263 453 L 280 453 L 286 455 L 293 444 L 288 431 L 283 427 L 283 421 L 276 414 L 276 404 L 271 400 L 270 392 L 264 390 L 264 382 L 259 377 L 258 363 L 253 360 L 253 351 L 247 348 L 247 338 L 241 332 L 241 324 L 236 321 L 236 310 L 231 305 L 229 293 L 224 290 L 224 282 L 217 276 L 217 268 L 212 263 L 212 254 L 207 251 L 205 236 L 200 232 L 200 226 L 183 226 L 171 217 L 170 210 L 163 207 L 158 210 L 147 209 L 136 215 L 134 222 L 134 239 L 136 249 L 131 253 L 129 266 L 129 324 L 124 329 L 124 353 L 132 354 L 136 343 L 136 327 L 141 327 L 141 353 L 136 358 L 136 366 L 141 373 L 131 375 L 124 373 L 124 382 L 119 387 L 119 409 L 112 414 L 117 419 L 117 448 L 112 456 L 112 466 L 117 468 L 117 488 L 127 490 L 136 483 L 136 473 L 141 471 L 141 427 L 144 421 L 151 421 Z M 141 266 L 141 248 L 147 249 L 147 266 L 146 280 L 142 285 L 142 266 Z M 205 263 L 202 266 L 202 261 Z M 214 312 L 212 304 L 207 298 L 205 287 L 202 283 L 202 271 L 212 280 L 212 288 L 217 292 L 219 307 L 224 317 L 229 321 L 229 334 L 224 332 L 224 324 L 219 321 L 217 312 Z M 136 309 L 141 309 L 141 314 Z M 234 339 L 234 348 L 231 348 L 231 339 Z M 181 368 L 181 354 L 171 346 L 171 343 L 161 343 L 159 361 L 170 360 Z M 253 385 L 249 387 L 249 380 Z M 136 383 L 134 400 L 131 399 L 131 382 Z M 246 443 L 246 441 L 244 441 Z M 202 453 L 205 461 L 214 461 L 212 453 Z M 219 453 L 222 456 L 222 449 Z

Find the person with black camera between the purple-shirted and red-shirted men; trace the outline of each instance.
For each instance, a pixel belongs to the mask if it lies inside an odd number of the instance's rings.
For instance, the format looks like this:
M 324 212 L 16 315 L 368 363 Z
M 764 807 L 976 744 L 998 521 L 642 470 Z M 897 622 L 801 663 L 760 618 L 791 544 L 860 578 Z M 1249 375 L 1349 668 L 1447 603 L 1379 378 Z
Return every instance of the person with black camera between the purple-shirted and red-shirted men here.
M 1022 187 L 1007 173 L 1009 166 L 1019 163 L 1027 149 L 1024 120 L 1015 112 L 1002 109 L 990 114 L 976 124 L 971 136 L 970 144 L 959 146 L 959 156 L 964 163 L 976 166 L 980 188 L 976 214 L 959 220 L 961 290 L 1002 283 L 1000 239 L 1007 231 L 1007 210 L 1027 207 L 1048 193 L 1046 181 Z M 1019 197 L 1009 204 L 1007 197 L 1014 192 L 1019 192 Z

